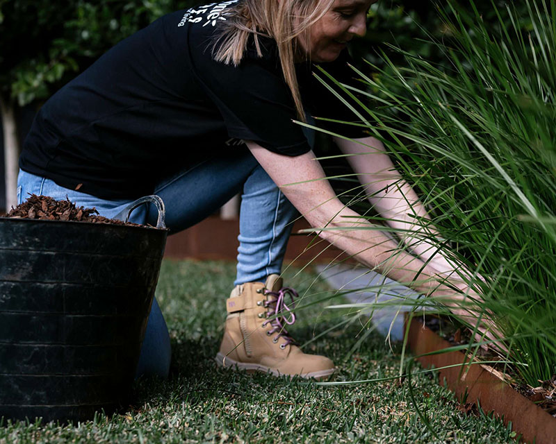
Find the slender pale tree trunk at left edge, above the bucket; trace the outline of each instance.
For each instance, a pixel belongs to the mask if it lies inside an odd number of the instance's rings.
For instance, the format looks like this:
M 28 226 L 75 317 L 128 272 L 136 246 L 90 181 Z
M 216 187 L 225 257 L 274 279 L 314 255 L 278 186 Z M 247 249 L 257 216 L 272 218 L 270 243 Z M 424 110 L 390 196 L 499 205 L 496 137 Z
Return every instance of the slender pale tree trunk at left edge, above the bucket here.
M 6 212 L 17 205 L 17 173 L 19 172 L 19 137 L 15 121 L 15 102 L 0 95 L 0 112 L 4 133 L 4 175 L 6 180 Z

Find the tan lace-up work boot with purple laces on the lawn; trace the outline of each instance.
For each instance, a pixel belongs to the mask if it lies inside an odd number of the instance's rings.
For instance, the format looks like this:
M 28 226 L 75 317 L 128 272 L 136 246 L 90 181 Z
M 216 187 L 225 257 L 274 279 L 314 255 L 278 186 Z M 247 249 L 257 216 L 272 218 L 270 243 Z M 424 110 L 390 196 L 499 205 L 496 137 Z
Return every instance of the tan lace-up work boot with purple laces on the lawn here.
M 282 288 L 278 275 L 270 275 L 265 284 L 247 282 L 237 285 L 227 300 L 228 317 L 224 338 L 216 362 L 224 367 L 260 370 L 275 376 L 291 375 L 324 379 L 334 373 L 334 363 L 324 356 L 306 355 L 284 328 L 295 322 L 287 319 L 290 307 L 286 294 L 297 293 Z M 292 304 L 293 306 L 293 304 Z

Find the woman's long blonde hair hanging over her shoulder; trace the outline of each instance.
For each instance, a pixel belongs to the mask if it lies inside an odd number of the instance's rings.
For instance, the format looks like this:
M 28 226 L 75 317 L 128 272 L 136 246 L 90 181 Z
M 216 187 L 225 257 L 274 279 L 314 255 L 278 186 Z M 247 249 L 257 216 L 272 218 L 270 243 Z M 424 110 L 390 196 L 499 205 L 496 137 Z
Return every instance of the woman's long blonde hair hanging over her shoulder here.
M 214 59 L 228 65 L 239 65 L 250 35 L 254 36 L 256 53 L 262 56 L 259 35 L 272 37 L 284 80 L 290 88 L 297 117 L 305 121 L 297 76 L 295 56 L 300 53 L 299 40 L 309 48 L 309 26 L 318 21 L 334 0 L 240 0 L 226 12 L 220 22 L 221 31 L 215 42 Z

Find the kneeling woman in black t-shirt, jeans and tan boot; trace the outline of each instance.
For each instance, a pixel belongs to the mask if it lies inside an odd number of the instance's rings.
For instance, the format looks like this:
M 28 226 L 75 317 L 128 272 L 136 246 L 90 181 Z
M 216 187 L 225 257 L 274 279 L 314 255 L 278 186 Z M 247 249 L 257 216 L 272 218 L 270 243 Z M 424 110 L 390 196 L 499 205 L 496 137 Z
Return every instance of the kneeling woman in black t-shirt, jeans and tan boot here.
M 111 217 L 132 200 L 157 194 L 167 226 L 177 232 L 241 192 L 237 278 L 217 361 L 275 375 L 331 374 L 332 361 L 304 354 L 279 316 L 279 274 L 296 209 L 313 227 L 343 228 L 321 237 L 366 266 L 413 281 L 426 294 L 453 292 L 434 278 L 450 269 L 442 257 L 427 266 L 407 253 L 392 257 L 397 244 L 359 229 L 369 223 L 322 180 L 311 135 L 293 123 L 311 114 L 350 118 L 311 68 L 319 63 L 340 80 L 350 77 L 345 46 L 364 35 L 371 3 L 229 0 L 161 17 L 42 107 L 20 159 L 19 203 L 28 193 L 67 196 Z M 351 140 L 336 138 L 336 144 L 384 216 L 402 218 L 411 203 L 411 212 L 427 217 L 377 139 L 339 131 Z M 389 184 L 397 185 L 381 191 Z M 153 216 L 145 207 L 132 221 L 152 223 Z M 413 229 L 410 221 L 400 224 Z M 170 339 L 155 300 L 138 374 L 165 376 L 169 366 Z

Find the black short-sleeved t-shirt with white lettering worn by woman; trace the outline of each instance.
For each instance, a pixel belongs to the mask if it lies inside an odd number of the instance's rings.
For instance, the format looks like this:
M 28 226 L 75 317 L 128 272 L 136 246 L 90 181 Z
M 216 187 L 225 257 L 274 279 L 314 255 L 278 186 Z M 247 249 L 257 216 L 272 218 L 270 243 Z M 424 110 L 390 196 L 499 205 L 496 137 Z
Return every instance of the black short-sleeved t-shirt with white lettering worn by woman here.
M 262 58 L 248 49 L 238 67 L 213 60 L 216 25 L 232 3 L 165 15 L 114 46 L 42 106 L 19 166 L 100 198 L 136 198 L 188 165 L 240 149 L 241 139 L 284 155 L 309 151 L 273 40 L 263 39 Z M 346 57 L 324 65 L 346 80 Z M 314 115 L 354 119 L 307 65 L 297 75 Z M 350 126 L 343 134 L 364 136 Z

